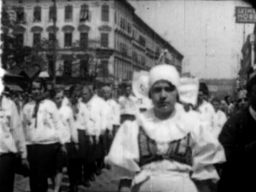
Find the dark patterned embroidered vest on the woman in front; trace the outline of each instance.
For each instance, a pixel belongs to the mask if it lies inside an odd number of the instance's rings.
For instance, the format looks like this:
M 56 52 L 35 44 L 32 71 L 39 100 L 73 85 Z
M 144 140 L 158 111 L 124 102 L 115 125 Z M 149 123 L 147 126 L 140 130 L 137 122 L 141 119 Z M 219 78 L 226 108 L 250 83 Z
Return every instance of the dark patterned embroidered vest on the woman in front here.
M 159 160 L 175 160 L 179 163 L 192 166 L 190 133 L 181 139 L 169 143 L 156 143 L 140 127 L 138 143 L 140 154 L 139 166 Z

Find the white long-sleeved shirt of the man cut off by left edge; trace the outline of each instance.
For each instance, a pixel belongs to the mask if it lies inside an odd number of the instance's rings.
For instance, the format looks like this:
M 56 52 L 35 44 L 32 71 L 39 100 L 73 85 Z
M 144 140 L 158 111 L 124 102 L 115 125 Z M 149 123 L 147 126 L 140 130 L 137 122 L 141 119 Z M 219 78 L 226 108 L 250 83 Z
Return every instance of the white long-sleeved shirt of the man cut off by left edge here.
M 3 96 L 0 104 L 0 155 L 20 153 L 26 158 L 26 142 L 15 102 Z

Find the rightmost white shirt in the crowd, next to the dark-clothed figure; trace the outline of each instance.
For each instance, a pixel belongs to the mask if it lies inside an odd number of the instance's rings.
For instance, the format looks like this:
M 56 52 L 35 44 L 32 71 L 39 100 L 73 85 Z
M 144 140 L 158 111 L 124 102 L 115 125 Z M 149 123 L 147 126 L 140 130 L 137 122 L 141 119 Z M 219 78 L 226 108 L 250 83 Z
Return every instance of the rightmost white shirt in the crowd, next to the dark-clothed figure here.
M 227 121 L 227 116 L 223 111 L 218 110 L 217 112 L 214 113 L 212 133 L 214 134 L 215 137 L 218 138 L 218 135 L 222 130 L 226 121 Z

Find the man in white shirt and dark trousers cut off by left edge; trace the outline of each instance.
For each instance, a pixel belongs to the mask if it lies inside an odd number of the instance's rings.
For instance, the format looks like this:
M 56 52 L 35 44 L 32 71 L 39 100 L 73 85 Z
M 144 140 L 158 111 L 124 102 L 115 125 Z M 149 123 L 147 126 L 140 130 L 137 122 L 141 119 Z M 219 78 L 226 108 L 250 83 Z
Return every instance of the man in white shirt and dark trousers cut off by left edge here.
M 26 160 L 26 143 L 15 102 L 0 95 L 0 191 L 12 192 L 15 181 L 16 155 Z

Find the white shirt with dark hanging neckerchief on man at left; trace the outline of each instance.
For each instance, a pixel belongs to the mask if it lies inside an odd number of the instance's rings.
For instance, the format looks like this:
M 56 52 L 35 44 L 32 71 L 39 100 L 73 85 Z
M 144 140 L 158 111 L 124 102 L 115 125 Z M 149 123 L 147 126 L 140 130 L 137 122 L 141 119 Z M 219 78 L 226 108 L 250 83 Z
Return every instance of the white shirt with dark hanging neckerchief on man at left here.
M 23 125 L 26 144 L 61 143 L 61 120 L 55 102 L 48 99 L 39 103 L 36 118 L 33 117 L 36 102 L 28 102 L 23 108 Z

